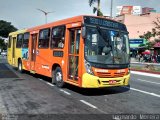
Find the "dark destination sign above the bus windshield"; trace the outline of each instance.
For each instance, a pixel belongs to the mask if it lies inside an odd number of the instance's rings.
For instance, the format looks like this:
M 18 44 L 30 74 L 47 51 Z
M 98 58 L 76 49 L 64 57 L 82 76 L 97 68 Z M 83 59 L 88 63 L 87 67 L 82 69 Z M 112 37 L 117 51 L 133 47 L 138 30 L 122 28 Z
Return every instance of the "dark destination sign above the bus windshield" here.
M 114 28 L 114 29 L 120 29 L 126 31 L 125 25 L 122 23 L 108 20 L 105 18 L 96 18 L 96 17 L 90 17 L 90 16 L 85 16 L 84 17 L 84 23 L 86 24 L 91 24 L 91 25 L 98 25 L 102 27 L 109 27 L 109 28 Z

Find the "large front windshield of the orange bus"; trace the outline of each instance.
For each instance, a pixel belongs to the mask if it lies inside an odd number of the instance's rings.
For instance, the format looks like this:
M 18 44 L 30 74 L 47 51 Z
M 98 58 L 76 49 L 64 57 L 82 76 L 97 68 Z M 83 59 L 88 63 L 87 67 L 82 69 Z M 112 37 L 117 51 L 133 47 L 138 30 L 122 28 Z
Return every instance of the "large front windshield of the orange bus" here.
M 128 64 L 129 41 L 127 32 L 87 27 L 85 58 L 100 64 Z

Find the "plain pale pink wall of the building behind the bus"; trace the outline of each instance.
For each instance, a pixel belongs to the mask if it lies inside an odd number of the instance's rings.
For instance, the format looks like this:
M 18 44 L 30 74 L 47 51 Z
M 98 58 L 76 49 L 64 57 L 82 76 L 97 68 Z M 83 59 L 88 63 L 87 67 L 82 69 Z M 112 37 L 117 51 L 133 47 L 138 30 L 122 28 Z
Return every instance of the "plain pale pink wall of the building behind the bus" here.
M 124 15 L 116 17 L 115 20 L 121 21 L 126 24 L 129 38 L 137 39 L 147 31 L 152 31 L 155 28 L 153 21 L 160 17 L 160 13 L 149 13 L 144 15 Z

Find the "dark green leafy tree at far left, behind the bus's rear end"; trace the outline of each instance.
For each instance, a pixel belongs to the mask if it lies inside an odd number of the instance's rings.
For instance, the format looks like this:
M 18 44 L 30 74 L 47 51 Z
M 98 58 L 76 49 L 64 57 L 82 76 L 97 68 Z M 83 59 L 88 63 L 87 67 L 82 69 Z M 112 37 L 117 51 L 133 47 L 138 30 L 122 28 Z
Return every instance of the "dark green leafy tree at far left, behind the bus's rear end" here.
M 13 25 L 11 25 L 10 22 L 6 22 L 4 20 L 0 20 L 0 36 L 7 38 L 8 34 L 10 32 L 16 31 L 17 28 L 15 28 Z

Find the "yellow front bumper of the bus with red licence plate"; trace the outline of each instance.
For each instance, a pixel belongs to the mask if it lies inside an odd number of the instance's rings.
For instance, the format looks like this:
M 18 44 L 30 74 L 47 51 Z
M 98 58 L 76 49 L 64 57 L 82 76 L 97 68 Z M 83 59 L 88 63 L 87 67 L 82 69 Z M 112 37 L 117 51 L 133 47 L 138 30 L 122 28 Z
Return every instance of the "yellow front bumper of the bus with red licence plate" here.
M 117 78 L 99 78 L 97 76 L 84 73 L 82 77 L 83 88 L 101 88 L 114 86 L 127 86 L 129 84 L 130 74 Z

